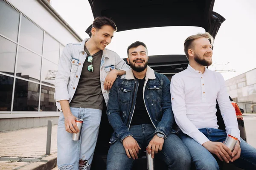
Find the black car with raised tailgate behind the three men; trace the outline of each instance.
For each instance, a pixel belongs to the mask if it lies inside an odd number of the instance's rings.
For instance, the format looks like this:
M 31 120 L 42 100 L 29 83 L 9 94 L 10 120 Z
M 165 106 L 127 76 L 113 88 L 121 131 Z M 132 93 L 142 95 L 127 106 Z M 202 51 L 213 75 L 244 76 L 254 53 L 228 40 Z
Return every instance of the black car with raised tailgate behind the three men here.
M 194 26 L 204 28 L 214 38 L 224 22 L 224 17 L 212 11 L 215 0 L 141 0 L 141 1 L 118 1 L 118 0 L 88 0 L 92 9 L 93 17 L 106 16 L 112 18 L 120 31 L 138 28 L 153 28 L 166 26 Z M 91 26 L 86 30 L 90 36 Z M 117 34 L 116 33 L 116 34 Z M 156 32 L 148 35 L 157 36 Z M 140 40 L 140 37 L 137 38 Z M 170 40 L 171 41 L 171 40 Z M 157 42 L 156 42 L 157 43 Z M 148 65 L 161 74 L 166 75 L 169 80 L 172 76 L 183 71 L 188 66 L 185 55 L 154 55 L 149 56 Z M 126 59 L 124 59 L 126 61 Z M 241 138 L 246 140 L 243 116 L 236 102 L 230 98 L 236 109 Z M 225 130 L 218 103 L 216 105 L 216 116 L 220 129 Z M 109 149 L 109 139 L 113 129 L 108 122 L 106 106 L 102 111 L 102 119 L 99 129 L 99 137 L 93 157 L 91 170 L 105 170 L 106 159 Z M 145 153 L 145 152 L 144 152 Z M 163 162 L 156 162 L 157 168 L 165 170 L 167 167 Z M 222 164 L 224 170 L 235 170 L 230 164 Z M 134 162 L 133 170 L 146 170 L 145 155 L 140 156 Z

